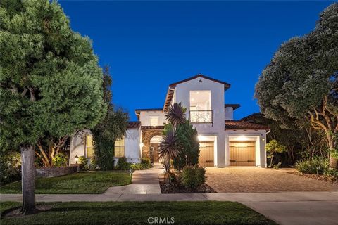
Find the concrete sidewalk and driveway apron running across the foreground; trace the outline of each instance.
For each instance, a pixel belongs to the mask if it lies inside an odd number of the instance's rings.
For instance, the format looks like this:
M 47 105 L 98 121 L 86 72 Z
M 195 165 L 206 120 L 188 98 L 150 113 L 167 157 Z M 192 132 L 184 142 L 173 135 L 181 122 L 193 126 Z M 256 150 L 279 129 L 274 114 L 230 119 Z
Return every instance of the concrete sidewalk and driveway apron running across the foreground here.
M 338 224 L 338 192 L 36 195 L 37 202 L 71 201 L 233 201 L 278 224 Z M 22 201 L 20 194 L 1 194 L 1 201 Z

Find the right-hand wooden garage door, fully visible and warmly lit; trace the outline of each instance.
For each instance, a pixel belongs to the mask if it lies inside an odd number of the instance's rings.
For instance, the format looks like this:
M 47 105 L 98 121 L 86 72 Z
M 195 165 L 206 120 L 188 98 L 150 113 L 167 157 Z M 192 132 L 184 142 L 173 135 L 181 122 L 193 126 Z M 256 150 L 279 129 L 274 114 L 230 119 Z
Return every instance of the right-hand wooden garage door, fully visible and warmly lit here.
M 254 166 L 255 152 L 255 141 L 230 141 L 230 166 Z

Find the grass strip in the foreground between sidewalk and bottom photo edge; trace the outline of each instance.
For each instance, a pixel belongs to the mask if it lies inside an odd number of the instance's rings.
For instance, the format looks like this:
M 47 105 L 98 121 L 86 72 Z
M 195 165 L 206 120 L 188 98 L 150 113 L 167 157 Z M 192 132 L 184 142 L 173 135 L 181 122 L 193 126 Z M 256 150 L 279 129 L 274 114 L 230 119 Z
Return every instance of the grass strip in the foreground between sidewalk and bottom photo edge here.
M 232 202 L 40 203 L 46 212 L 1 219 L 6 224 L 149 224 L 149 217 L 174 217 L 175 224 L 275 224 L 262 214 Z M 2 205 L 2 203 L 1 203 Z M 2 206 L 1 206 L 2 207 Z

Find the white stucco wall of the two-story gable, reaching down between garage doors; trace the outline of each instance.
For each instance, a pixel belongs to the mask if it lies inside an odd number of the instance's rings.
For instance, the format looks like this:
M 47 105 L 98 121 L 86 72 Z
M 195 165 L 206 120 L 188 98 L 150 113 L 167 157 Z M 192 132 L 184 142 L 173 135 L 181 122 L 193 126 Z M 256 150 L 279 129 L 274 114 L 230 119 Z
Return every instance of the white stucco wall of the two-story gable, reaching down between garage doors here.
M 201 80 L 202 82 L 199 82 Z M 214 159 L 215 166 L 225 167 L 225 108 L 224 108 L 224 85 L 213 82 L 203 77 L 197 77 L 188 82 L 177 84 L 175 88 L 175 99 L 173 102 L 181 102 L 187 108 L 187 118 L 189 119 L 190 91 L 211 91 L 211 110 L 213 110 L 213 124 L 193 124 L 199 135 L 217 136 L 215 151 L 217 158 Z

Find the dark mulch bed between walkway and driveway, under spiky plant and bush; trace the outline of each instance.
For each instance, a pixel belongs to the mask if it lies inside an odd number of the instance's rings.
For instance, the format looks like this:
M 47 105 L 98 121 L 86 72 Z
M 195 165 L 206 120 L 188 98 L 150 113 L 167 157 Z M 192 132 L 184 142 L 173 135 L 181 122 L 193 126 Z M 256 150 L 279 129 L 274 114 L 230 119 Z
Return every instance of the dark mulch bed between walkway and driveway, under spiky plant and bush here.
M 173 193 L 216 193 L 211 186 L 208 184 L 202 184 L 199 188 L 191 189 L 186 188 L 182 184 L 177 183 L 166 183 L 165 181 L 160 181 L 161 192 L 163 194 L 173 194 Z

